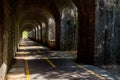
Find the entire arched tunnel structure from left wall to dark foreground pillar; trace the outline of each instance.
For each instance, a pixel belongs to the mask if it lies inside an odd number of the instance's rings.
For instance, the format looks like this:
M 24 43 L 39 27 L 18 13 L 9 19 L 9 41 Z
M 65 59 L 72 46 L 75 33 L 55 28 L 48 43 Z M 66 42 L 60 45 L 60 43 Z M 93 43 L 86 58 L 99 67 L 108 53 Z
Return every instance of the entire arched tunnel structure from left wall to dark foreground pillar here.
M 77 50 L 76 61 L 94 64 L 94 2 L 1 0 L 0 66 L 5 68 L 3 74 L 12 63 L 20 40 L 26 36 L 56 50 Z

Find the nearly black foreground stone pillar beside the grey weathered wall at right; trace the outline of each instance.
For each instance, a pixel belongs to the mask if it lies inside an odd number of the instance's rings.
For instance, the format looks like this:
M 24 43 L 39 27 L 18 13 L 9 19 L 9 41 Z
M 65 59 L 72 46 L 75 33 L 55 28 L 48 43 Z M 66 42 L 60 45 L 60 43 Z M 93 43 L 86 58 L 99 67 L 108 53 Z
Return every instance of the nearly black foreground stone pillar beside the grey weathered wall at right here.
M 94 64 L 95 0 L 74 0 L 78 7 L 77 62 Z

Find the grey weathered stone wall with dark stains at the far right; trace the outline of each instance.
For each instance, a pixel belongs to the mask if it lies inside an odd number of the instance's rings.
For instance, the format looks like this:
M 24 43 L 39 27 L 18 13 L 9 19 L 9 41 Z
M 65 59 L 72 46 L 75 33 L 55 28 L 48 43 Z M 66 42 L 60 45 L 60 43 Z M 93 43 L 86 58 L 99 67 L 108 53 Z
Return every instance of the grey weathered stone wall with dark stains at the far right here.
M 95 63 L 120 63 L 120 0 L 96 0 Z

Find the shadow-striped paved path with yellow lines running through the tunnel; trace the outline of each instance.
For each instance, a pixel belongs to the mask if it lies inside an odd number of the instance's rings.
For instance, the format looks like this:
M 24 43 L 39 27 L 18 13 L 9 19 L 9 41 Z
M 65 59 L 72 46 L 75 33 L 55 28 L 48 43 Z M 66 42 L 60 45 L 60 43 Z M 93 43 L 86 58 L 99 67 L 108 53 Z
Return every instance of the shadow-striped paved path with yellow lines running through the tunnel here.
M 62 55 L 31 40 L 22 40 L 7 80 L 120 80 L 117 75 L 76 64 Z

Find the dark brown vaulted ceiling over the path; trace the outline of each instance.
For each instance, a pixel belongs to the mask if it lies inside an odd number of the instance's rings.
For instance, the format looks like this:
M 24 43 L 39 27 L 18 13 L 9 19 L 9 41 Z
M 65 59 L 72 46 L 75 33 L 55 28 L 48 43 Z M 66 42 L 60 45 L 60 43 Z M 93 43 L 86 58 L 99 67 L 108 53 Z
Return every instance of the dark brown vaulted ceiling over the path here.
M 21 27 L 26 24 L 47 23 L 50 17 L 60 19 L 63 8 L 73 7 L 72 0 L 9 0 L 9 3 L 15 10 Z

